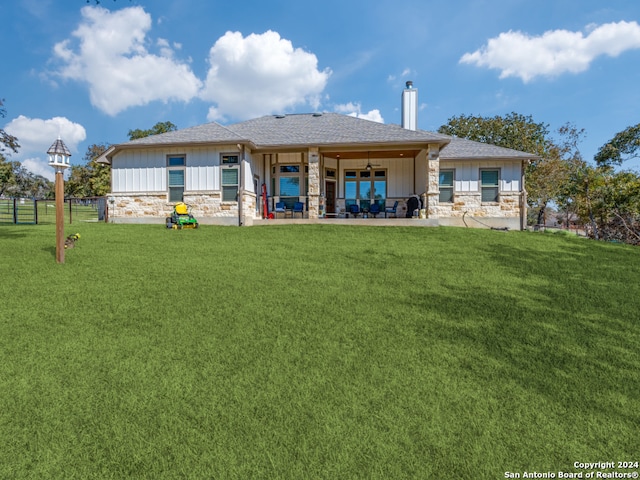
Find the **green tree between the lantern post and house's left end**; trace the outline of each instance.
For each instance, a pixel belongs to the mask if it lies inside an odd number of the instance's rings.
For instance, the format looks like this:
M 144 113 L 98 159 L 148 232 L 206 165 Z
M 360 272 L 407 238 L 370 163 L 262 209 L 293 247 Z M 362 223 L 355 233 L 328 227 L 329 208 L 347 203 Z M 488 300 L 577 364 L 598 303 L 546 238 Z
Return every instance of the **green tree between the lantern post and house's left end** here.
M 65 182 L 65 195 L 69 197 L 102 197 L 111 189 L 109 165 L 98 163 L 97 158 L 107 151 L 108 145 L 93 144 L 84 155 L 84 165 L 73 165 Z

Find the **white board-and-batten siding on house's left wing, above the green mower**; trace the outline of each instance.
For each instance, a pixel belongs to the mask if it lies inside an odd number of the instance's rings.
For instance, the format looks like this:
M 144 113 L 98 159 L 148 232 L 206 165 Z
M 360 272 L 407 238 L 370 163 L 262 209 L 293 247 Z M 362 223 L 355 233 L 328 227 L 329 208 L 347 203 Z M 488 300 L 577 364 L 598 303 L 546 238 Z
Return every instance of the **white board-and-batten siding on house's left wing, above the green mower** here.
M 112 191 L 114 193 L 166 192 L 167 156 L 170 155 L 186 156 L 185 191 L 220 190 L 220 155 L 237 151 L 235 145 L 124 151 L 112 161 Z M 249 155 L 247 160 L 250 161 Z M 249 172 L 246 172 L 246 175 L 250 178 Z

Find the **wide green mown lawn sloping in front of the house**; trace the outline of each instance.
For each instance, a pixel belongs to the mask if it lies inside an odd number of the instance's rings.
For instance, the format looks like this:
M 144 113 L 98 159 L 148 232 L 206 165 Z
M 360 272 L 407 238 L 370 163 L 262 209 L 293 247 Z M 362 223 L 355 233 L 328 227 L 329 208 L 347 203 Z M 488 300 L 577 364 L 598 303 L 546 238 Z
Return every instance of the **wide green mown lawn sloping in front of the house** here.
M 72 230 L 72 231 L 71 231 Z M 455 228 L 0 227 L 0 478 L 638 460 L 640 250 Z

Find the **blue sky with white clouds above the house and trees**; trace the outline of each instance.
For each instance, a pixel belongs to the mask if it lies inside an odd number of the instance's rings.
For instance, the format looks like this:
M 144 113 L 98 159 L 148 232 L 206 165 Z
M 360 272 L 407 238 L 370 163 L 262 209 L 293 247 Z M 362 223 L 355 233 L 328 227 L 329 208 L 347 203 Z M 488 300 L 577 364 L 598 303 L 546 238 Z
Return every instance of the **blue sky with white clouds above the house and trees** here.
M 418 127 L 517 112 L 586 130 L 586 159 L 640 122 L 637 0 L 13 0 L 2 2 L 0 125 L 52 177 L 130 129 L 331 111 Z M 628 167 L 635 167 L 629 164 Z

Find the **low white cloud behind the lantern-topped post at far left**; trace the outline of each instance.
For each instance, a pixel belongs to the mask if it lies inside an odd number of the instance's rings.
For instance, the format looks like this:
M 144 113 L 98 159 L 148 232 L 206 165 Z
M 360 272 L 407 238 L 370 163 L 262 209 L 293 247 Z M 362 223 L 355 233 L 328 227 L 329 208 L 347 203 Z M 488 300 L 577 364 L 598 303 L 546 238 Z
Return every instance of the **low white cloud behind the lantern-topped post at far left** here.
M 60 137 L 72 154 L 78 153 L 78 144 L 86 140 L 87 132 L 82 125 L 64 117 L 48 120 L 28 118 L 20 115 L 9 122 L 5 131 L 18 138 L 20 149 L 11 159 L 22 163 L 31 172 L 53 180 L 54 172 L 49 166 L 47 150 Z

